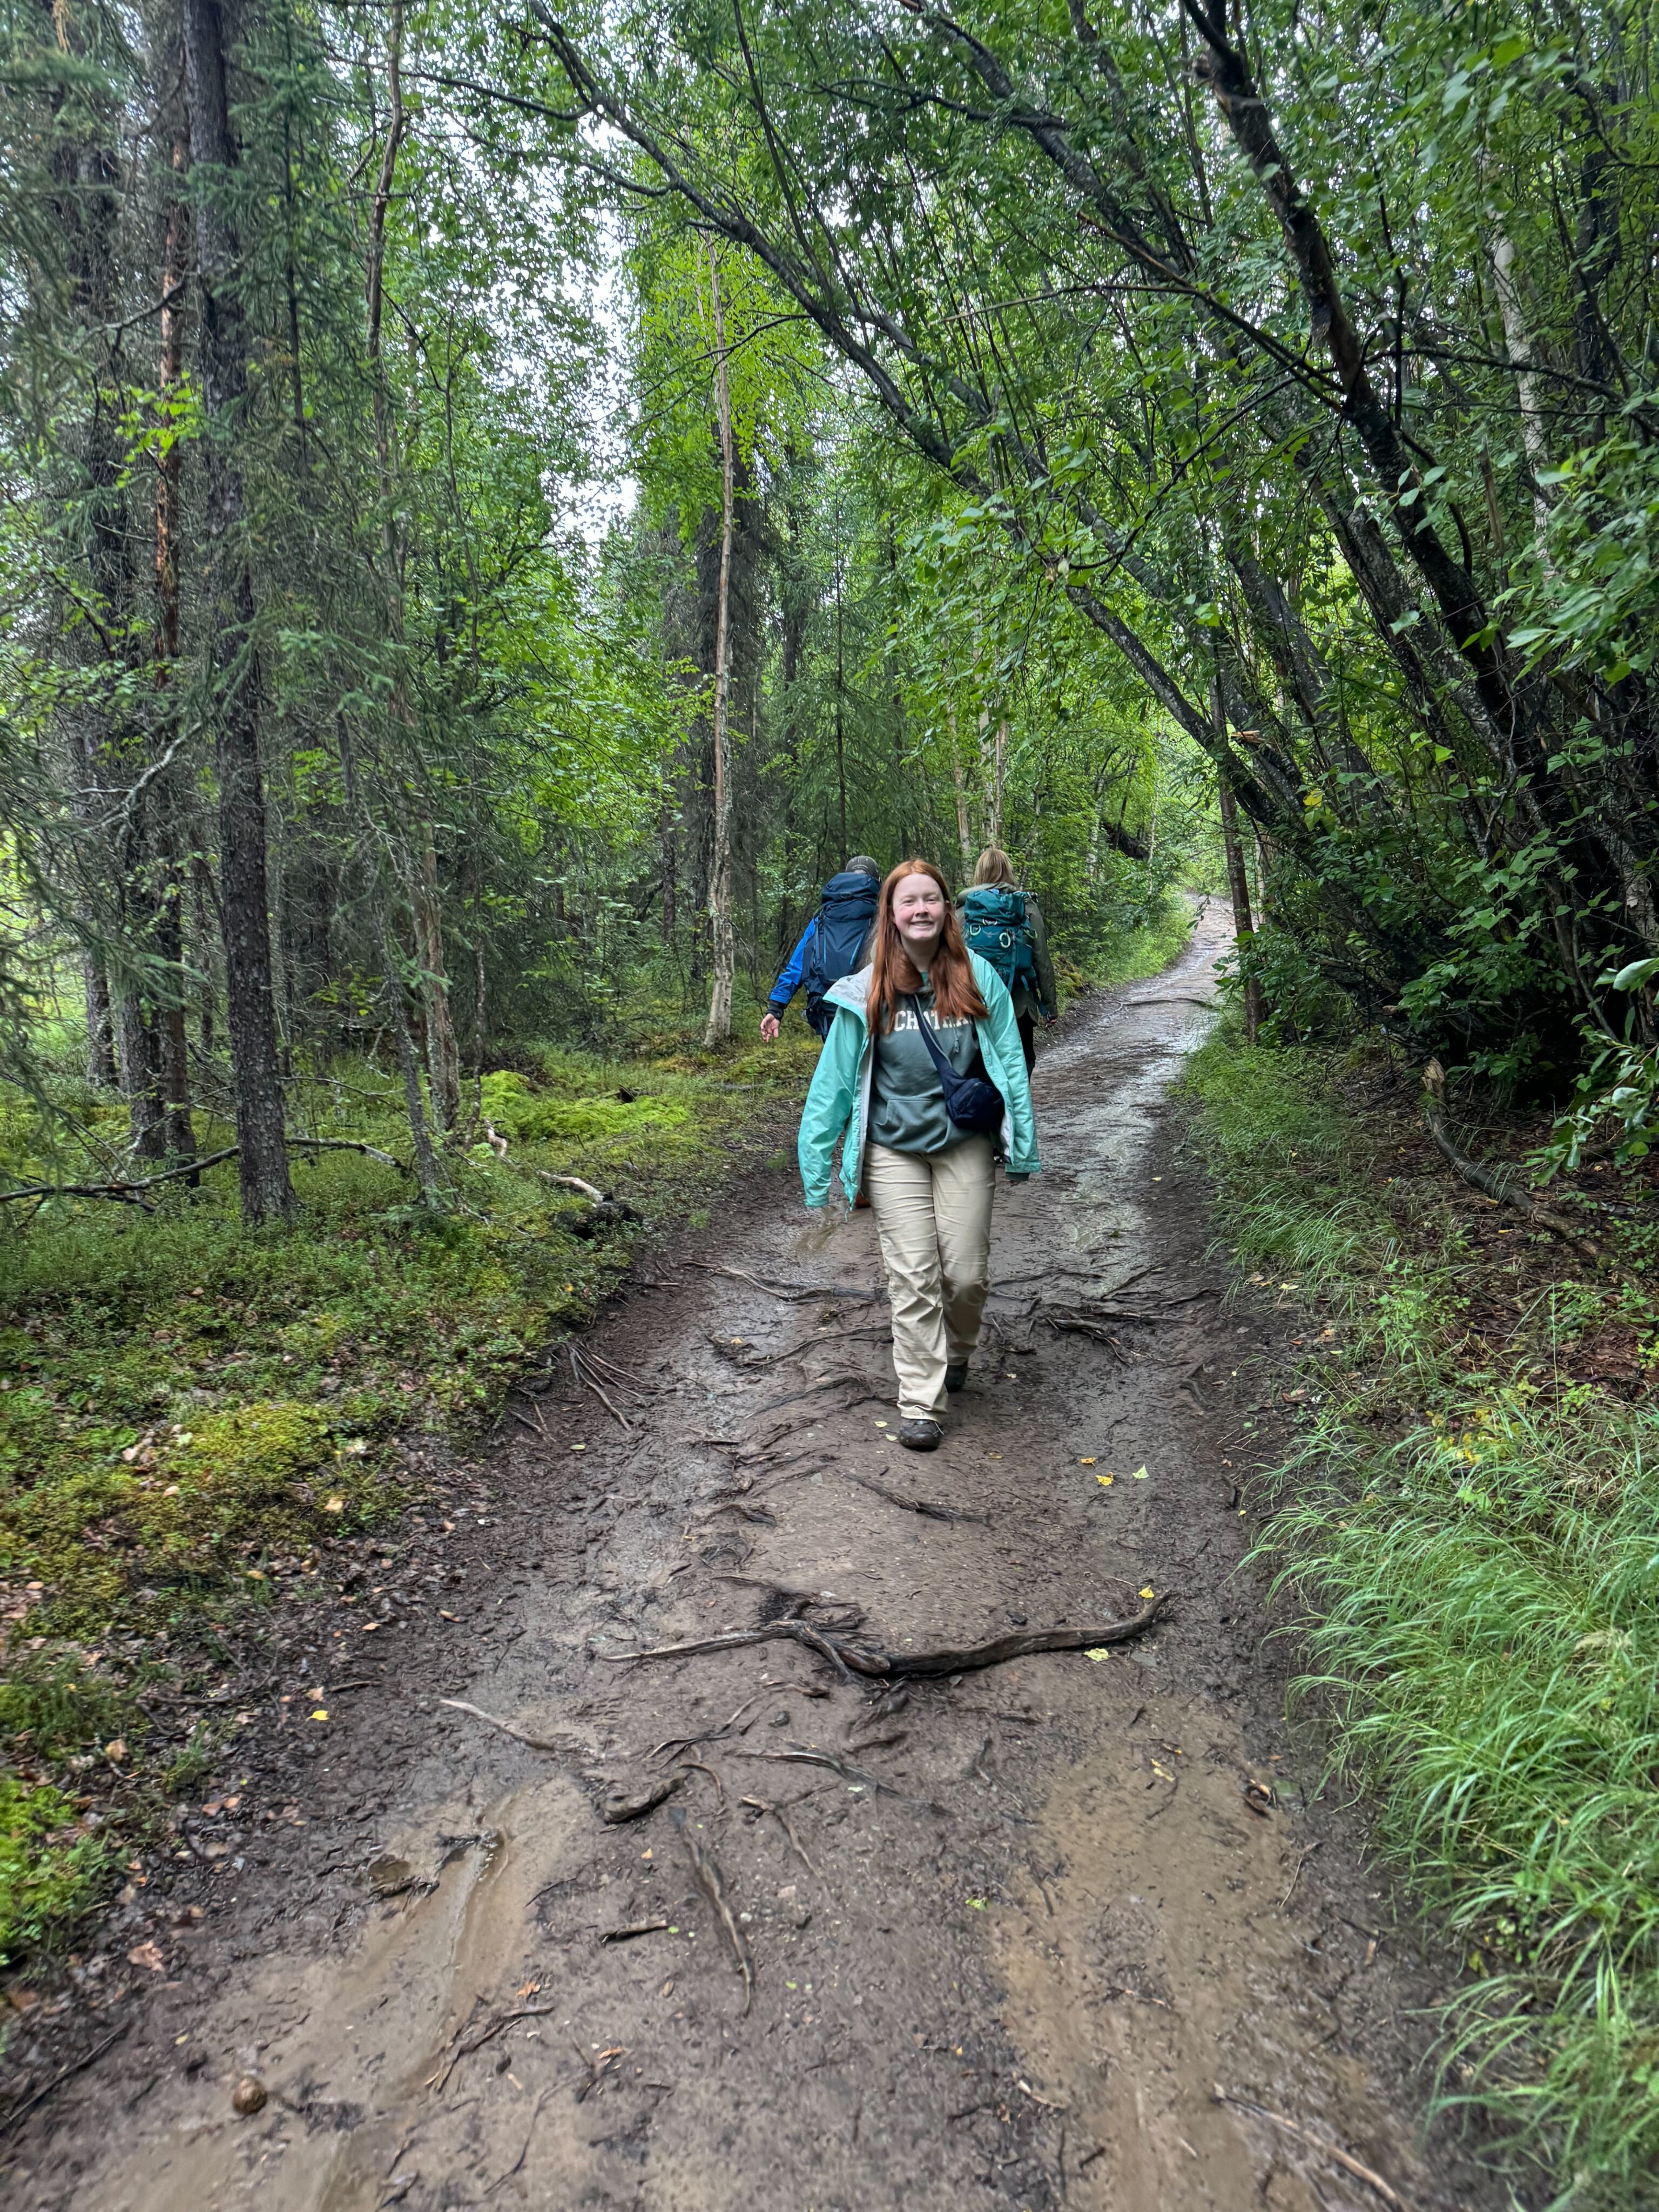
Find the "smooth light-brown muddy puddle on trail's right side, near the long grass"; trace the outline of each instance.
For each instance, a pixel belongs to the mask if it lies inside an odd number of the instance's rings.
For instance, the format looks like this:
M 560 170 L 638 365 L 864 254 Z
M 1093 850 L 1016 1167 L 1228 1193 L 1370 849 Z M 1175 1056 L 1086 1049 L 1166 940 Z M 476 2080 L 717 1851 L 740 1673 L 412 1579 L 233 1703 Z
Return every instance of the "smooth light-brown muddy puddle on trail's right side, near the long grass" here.
M 1259 1770 L 1239 1730 L 1206 1699 L 1146 1699 L 1144 1670 L 1110 1668 L 1097 1692 L 1106 1741 L 1097 1712 L 1097 1747 L 1057 1774 L 1040 1814 L 1055 1871 L 993 1931 L 1024 2079 L 1071 2112 L 1071 2201 L 1369 2203 L 1327 2159 L 1219 2104 L 1217 2086 L 1294 2112 L 1411 2188 L 1422 2174 L 1409 2130 L 1340 2051 L 1338 2000 L 1363 1971 L 1365 1936 L 1325 1949 L 1285 1909 L 1301 1849 L 1279 1814 L 1245 1805 Z M 1073 1679 L 1057 1719 L 1073 1705 L 1088 1725 L 1086 1697 Z

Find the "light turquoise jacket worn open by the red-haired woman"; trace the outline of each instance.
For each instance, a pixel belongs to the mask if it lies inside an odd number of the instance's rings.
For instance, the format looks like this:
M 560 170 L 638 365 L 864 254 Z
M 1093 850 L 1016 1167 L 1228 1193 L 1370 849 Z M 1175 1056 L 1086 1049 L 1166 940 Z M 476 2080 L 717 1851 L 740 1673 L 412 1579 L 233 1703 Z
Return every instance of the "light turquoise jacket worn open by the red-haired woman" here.
M 1026 1062 L 1020 1051 L 1020 1026 L 1013 1020 L 1013 1000 L 1009 998 L 1009 987 L 987 960 L 969 953 L 969 962 L 987 1009 L 984 1020 L 973 1024 L 980 1040 L 980 1057 L 984 1060 L 984 1073 L 1002 1093 L 1004 1106 L 1000 1150 L 1009 1164 L 1009 1175 L 1037 1175 L 1042 1172 L 1037 1124 L 1031 1113 L 1031 1084 L 1026 1082 Z M 834 1022 L 812 1075 L 805 1113 L 801 1115 L 799 1144 L 801 1183 L 807 1192 L 807 1206 L 823 1206 L 830 1197 L 830 1170 L 834 1168 L 836 1141 L 843 1130 L 847 1133 L 847 1141 L 841 1148 L 841 1188 L 847 1192 L 849 1206 L 858 1197 L 865 1175 L 869 1075 L 876 1064 L 869 1020 L 865 1015 L 867 998 L 869 969 L 843 975 L 823 995 L 823 1004 L 834 1006 Z

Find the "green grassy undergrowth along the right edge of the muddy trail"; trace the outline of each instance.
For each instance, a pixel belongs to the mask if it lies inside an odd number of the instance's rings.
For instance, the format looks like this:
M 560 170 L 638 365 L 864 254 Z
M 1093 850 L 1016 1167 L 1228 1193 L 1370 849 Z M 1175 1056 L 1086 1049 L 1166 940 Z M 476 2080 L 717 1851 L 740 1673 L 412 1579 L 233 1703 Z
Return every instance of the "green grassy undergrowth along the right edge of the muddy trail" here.
M 1557 2205 L 1652 2205 L 1659 1177 L 1555 1181 L 1595 1265 L 1451 1179 L 1385 1046 L 1223 1033 L 1190 1093 L 1237 1267 L 1312 1316 L 1254 1557 L 1294 1717 L 1462 1951 L 1438 2099 Z M 1506 1119 L 1464 1148 L 1546 1135 Z

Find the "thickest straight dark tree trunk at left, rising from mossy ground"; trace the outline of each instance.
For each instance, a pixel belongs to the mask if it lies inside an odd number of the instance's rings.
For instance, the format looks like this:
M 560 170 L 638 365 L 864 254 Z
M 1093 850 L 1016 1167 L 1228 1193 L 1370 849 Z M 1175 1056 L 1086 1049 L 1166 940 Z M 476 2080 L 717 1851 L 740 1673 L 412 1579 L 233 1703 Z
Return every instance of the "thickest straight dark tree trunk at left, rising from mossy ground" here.
M 259 646 L 254 577 L 243 542 L 237 436 L 248 396 L 248 334 L 232 272 L 239 241 L 223 192 L 237 168 L 226 93 L 219 0 L 184 0 L 190 166 L 206 184 L 197 221 L 201 276 L 201 403 L 208 416 L 208 564 L 212 666 L 219 677 L 215 770 L 219 776 L 219 902 L 226 947 L 226 1015 L 237 1093 L 237 1166 L 243 1221 L 296 1212 L 283 1135 L 283 1084 L 270 973 L 265 883 L 265 785 L 259 763 Z

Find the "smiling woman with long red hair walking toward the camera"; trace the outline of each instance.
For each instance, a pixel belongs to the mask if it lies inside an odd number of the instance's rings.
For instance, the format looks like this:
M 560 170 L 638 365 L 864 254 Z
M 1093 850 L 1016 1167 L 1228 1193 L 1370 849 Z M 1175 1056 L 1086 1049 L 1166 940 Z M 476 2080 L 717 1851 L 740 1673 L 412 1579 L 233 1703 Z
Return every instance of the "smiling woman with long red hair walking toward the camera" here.
M 894 1310 L 898 1442 L 933 1451 L 947 1391 L 967 1383 L 991 1290 L 991 1181 L 1037 1172 L 1013 1000 L 962 945 L 945 876 L 900 860 L 880 887 L 869 962 L 834 1011 L 801 1117 L 807 1206 L 869 1192 Z

